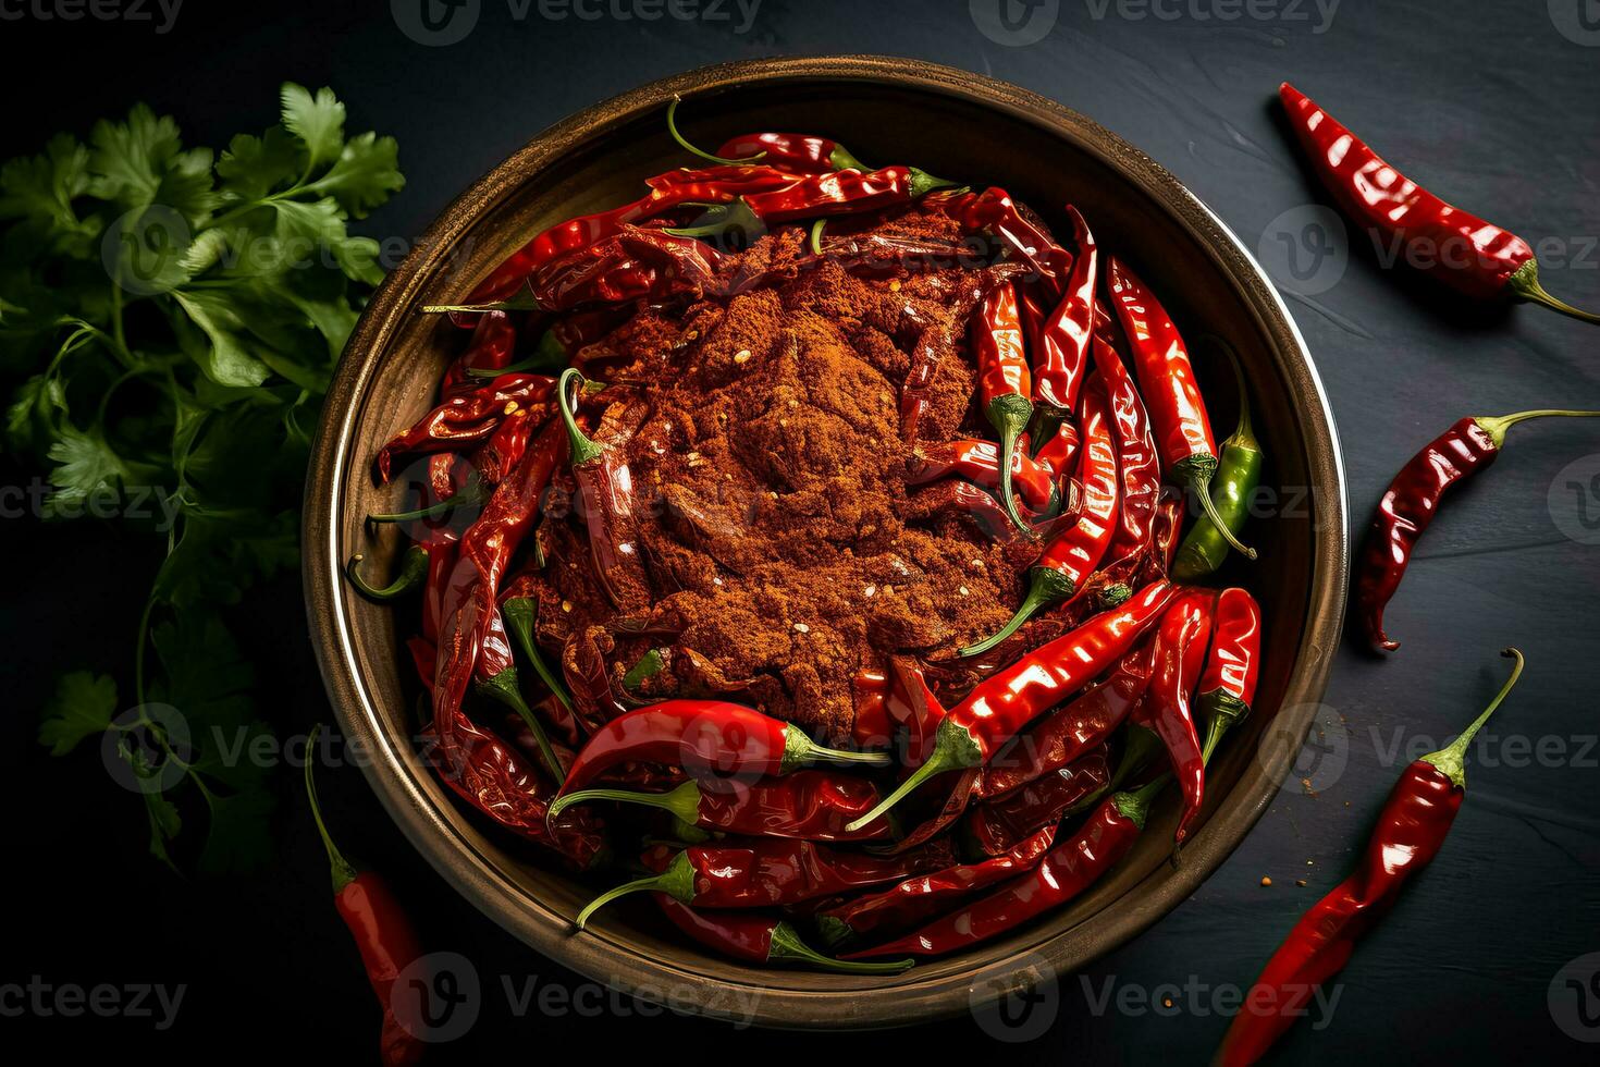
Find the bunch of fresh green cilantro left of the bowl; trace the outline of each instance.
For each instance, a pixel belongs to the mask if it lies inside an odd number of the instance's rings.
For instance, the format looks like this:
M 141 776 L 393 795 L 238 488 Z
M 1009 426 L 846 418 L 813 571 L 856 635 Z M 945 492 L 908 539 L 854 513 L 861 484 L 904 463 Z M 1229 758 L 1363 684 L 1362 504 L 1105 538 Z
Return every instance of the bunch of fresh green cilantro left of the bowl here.
M 250 752 L 272 729 L 224 608 L 299 563 L 309 429 L 382 280 L 347 222 L 405 184 L 394 138 L 347 138 L 331 90 L 290 83 L 280 102 L 278 125 L 219 154 L 141 104 L 0 168 L 5 446 L 51 486 L 46 520 L 128 504 L 117 522 L 166 545 L 131 685 L 62 675 L 38 741 L 66 755 L 112 734 L 160 784 L 141 790 L 150 853 L 200 870 L 270 854 L 274 793 Z

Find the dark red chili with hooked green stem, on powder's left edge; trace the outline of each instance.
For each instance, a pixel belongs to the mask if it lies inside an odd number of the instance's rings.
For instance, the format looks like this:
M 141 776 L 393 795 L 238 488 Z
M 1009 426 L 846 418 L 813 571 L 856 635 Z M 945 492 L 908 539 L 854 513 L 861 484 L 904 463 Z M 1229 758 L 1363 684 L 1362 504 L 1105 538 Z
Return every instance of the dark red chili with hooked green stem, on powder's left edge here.
M 611 603 L 624 614 L 650 606 L 650 577 L 640 558 L 638 520 L 634 515 L 634 477 L 621 450 L 590 440 L 578 429 L 570 397 L 571 382 L 584 387 L 576 368 L 562 371 L 557 381 L 557 403 L 566 426 L 566 448 L 573 478 L 578 482 L 589 530 L 589 552 L 595 576 Z

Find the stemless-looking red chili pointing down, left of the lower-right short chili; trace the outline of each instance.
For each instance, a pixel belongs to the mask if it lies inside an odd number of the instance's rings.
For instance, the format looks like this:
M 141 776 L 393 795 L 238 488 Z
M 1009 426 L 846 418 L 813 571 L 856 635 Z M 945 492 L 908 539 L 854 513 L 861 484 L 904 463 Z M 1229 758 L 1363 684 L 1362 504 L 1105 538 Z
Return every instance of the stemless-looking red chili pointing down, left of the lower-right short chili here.
M 1197 589 L 1186 592 L 1166 609 L 1155 633 L 1150 685 L 1130 715 L 1136 726 L 1160 737 L 1173 763 L 1173 774 L 1184 790 L 1184 813 L 1178 821 L 1174 845 L 1189 837 L 1189 824 L 1200 814 L 1200 803 L 1205 800 L 1205 760 L 1190 701 L 1205 667 L 1214 605 L 1213 590 Z

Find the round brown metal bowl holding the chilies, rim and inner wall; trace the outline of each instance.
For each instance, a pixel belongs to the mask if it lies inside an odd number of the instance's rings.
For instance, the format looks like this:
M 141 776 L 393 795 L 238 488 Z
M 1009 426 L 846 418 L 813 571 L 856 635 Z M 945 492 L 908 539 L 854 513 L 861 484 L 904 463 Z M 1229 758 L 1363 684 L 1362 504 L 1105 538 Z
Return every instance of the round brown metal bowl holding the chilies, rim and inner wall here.
M 814 130 L 869 160 L 915 163 L 1002 186 L 1070 232 L 1075 203 L 1101 246 L 1125 258 L 1189 334 L 1232 341 L 1251 379 L 1277 514 L 1248 526 L 1261 550 L 1234 563 L 1267 621 L 1256 713 L 1213 765 L 1203 824 L 1173 869 L 1171 790 L 1136 849 L 1099 885 L 1010 937 L 898 977 L 742 966 L 680 939 L 643 902 L 571 920 L 594 886 L 542 867 L 526 846 L 450 798 L 408 744 L 416 688 L 394 613 L 350 595 L 339 565 L 381 563 L 362 515 L 390 504 L 370 478 L 376 448 L 432 402 L 459 334 L 421 304 L 461 299 L 530 234 L 637 195 L 646 174 L 686 160 L 666 136 L 675 93 L 686 134 L 715 146 L 749 130 Z M 1214 357 L 1213 357 L 1214 360 Z M 1232 426 L 1226 366 L 1200 358 L 1218 427 Z M 1219 435 L 1226 429 L 1219 429 Z M 1288 773 L 1322 697 L 1344 614 L 1344 475 L 1322 384 L 1261 267 L 1165 170 L 1107 130 L 1042 96 L 909 59 L 762 59 L 694 70 L 597 104 L 536 136 L 461 195 L 384 282 L 344 352 L 306 486 L 306 601 L 328 696 L 366 776 L 418 849 L 464 897 L 539 952 L 619 990 L 683 1011 L 784 1027 L 878 1027 L 968 1011 L 1038 969 L 1080 968 L 1187 897 L 1245 837 Z

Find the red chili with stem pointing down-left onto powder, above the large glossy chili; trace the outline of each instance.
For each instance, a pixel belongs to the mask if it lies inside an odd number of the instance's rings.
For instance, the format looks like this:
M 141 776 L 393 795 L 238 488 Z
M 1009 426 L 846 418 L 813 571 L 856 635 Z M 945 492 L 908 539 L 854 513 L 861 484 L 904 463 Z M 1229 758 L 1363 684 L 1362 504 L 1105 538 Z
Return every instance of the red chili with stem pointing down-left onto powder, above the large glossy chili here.
M 1011 621 L 989 638 L 963 648 L 963 656 L 986 653 L 1016 633 L 1040 608 L 1082 593 L 1099 566 L 1117 523 L 1117 448 L 1112 440 L 1106 392 L 1091 387 L 1083 394 L 1083 510 L 1077 523 L 1056 534 L 1043 555 L 1027 571 L 1027 593 Z

